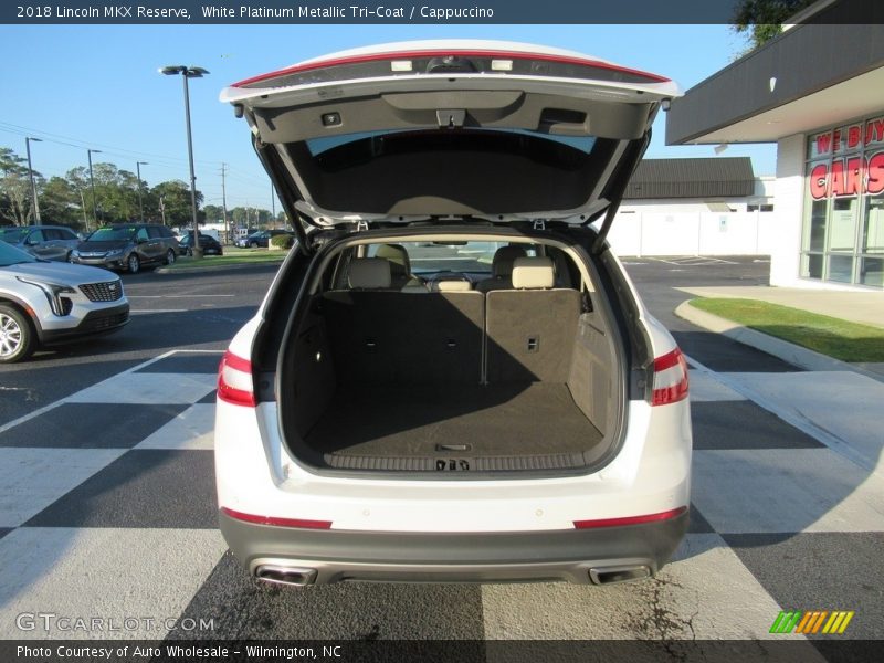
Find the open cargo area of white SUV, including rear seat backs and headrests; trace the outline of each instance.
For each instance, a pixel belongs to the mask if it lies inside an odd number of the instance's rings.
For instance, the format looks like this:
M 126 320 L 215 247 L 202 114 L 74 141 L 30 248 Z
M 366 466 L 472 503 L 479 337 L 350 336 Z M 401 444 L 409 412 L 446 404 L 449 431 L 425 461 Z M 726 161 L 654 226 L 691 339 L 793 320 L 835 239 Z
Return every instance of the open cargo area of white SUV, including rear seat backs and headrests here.
M 490 292 L 391 288 L 375 273 L 385 263 L 354 259 L 355 285 L 308 304 L 281 394 L 299 460 L 493 472 L 578 469 L 601 455 L 614 354 L 588 294 L 556 287 L 550 259 L 520 261 L 512 281 L 526 287 Z

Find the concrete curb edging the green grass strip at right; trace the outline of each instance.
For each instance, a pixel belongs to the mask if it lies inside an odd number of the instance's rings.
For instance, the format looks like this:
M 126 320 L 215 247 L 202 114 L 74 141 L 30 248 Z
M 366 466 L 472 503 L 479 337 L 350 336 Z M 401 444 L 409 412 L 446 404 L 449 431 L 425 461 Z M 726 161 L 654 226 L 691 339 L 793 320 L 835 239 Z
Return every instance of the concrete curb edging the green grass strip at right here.
M 695 308 L 691 305 L 691 301 L 682 302 L 677 308 L 675 308 L 675 315 L 697 327 L 722 334 L 732 340 L 754 347 L 806 370 L 851 371 L 878 382 L 884 382 L 884 376 L 881 373 L 834 359 L 828 355 L 821 355 L 808 348 L 802 348 L 801 346 L 769 336 L 762 332 L 749 329 L 733 320 Z

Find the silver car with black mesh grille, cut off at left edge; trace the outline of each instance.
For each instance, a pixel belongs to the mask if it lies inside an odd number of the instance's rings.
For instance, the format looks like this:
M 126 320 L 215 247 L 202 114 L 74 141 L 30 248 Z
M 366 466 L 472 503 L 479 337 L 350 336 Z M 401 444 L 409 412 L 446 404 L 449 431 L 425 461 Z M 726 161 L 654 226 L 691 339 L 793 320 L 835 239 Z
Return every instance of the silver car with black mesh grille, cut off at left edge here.
M 51 263 L 0 241 L 0 364 L 128 322 L 129 303 L 116 274 Z

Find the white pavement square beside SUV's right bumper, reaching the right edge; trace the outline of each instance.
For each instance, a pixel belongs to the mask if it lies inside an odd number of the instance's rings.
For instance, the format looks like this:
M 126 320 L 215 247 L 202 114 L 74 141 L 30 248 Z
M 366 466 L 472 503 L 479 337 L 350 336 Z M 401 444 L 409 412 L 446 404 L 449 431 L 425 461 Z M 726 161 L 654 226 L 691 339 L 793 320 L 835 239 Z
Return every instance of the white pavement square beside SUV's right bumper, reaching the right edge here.
M 722 534 L 884 532 L 884 478 L 829 449 L 695 450 L 691 488 Z

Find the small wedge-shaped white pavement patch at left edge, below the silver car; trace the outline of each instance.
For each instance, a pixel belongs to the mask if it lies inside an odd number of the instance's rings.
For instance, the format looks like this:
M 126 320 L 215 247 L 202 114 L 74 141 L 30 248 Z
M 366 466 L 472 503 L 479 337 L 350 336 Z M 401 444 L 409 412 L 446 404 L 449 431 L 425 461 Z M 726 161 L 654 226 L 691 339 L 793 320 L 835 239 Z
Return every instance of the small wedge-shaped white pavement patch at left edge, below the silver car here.
M 126 451 L 0 449 L 0 527 L 29 520 Z

